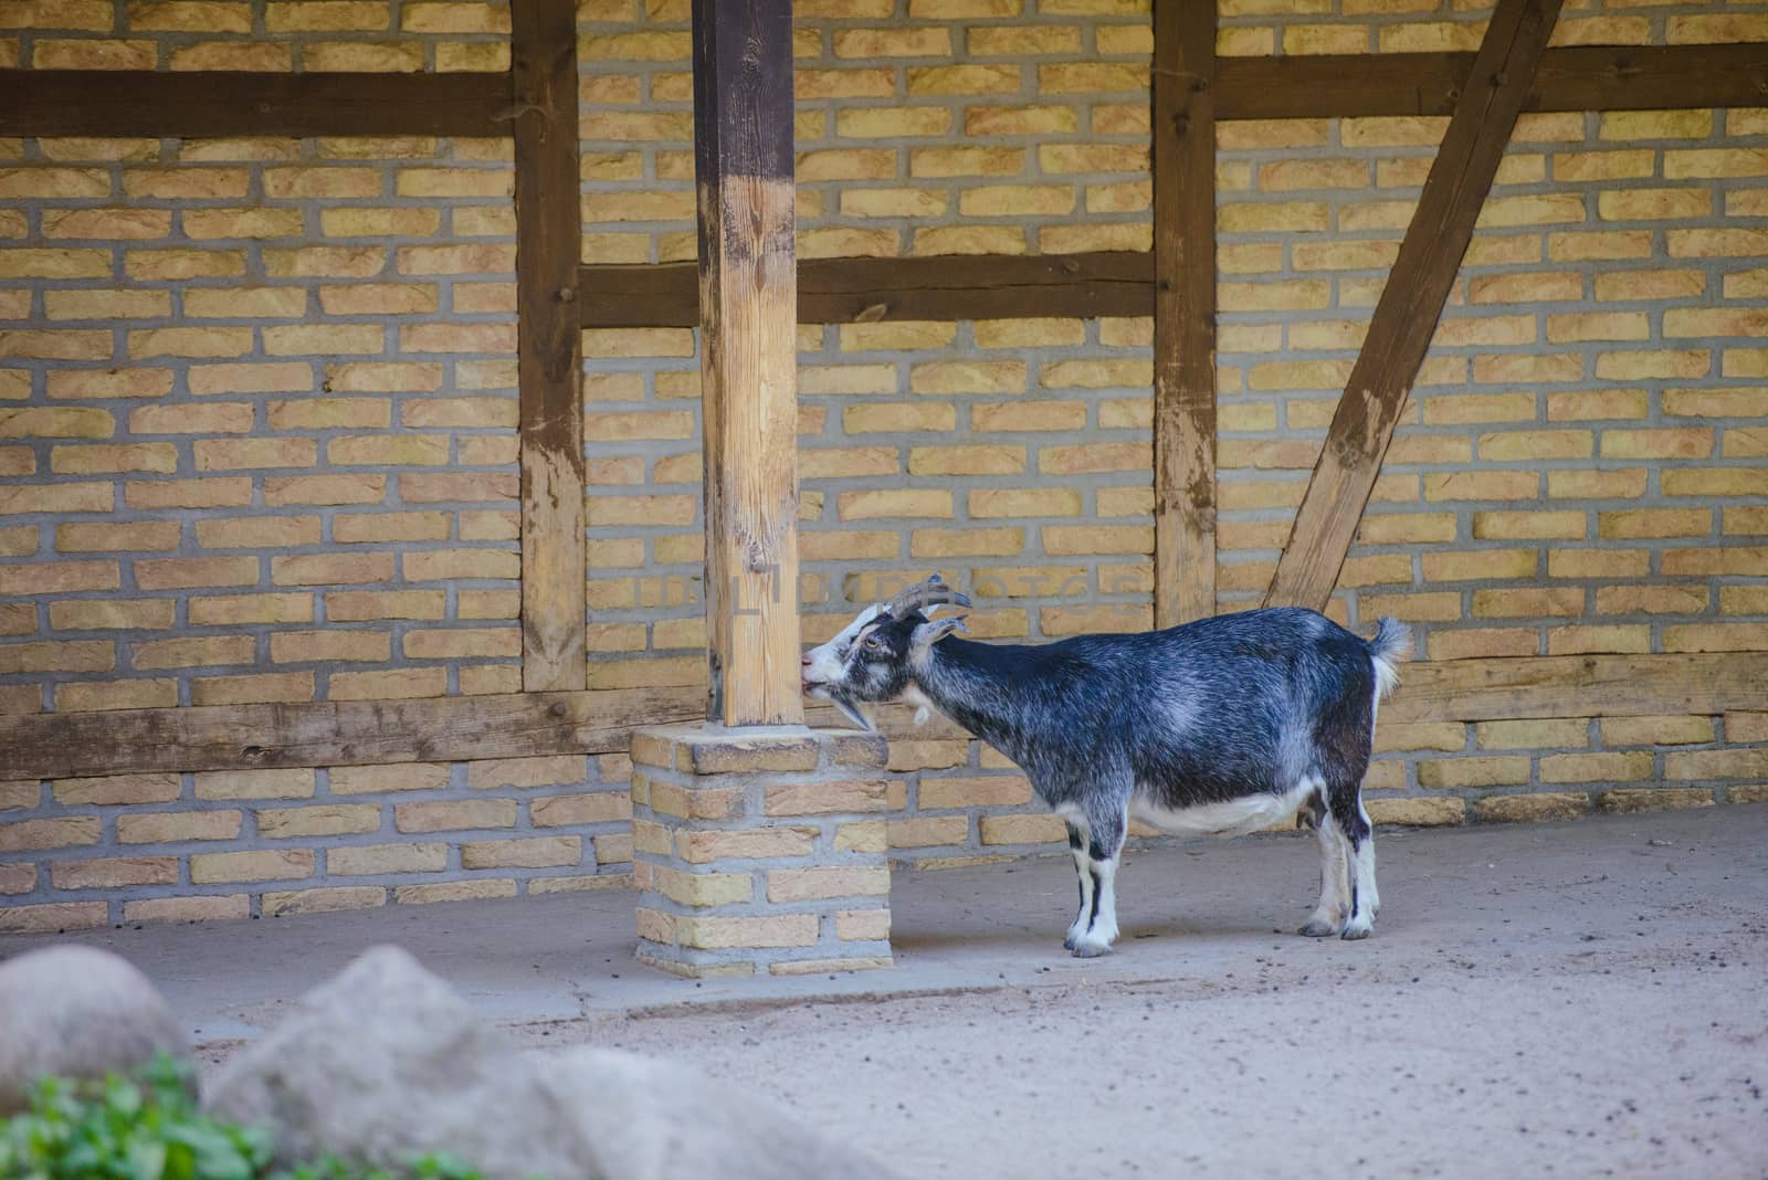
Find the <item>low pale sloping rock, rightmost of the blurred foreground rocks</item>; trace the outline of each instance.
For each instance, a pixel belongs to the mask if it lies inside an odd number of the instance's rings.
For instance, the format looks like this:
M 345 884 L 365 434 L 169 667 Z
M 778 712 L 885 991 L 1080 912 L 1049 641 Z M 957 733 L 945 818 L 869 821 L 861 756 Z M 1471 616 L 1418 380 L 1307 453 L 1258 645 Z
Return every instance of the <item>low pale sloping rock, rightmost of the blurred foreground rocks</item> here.
M 888 1180 L 870 1155 L 804 1127 L 728 1083 L 621 1049 L 539 1058 L 601 1171 L 617 1180 Z

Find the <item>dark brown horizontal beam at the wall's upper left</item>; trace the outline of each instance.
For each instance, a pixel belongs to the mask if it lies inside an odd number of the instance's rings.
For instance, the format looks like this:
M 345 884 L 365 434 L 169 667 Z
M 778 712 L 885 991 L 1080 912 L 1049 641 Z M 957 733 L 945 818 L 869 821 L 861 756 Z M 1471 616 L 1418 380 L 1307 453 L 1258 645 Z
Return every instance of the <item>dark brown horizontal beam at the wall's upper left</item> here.
M 507 136 L 509 74 L 0 69 L 0 136 Z

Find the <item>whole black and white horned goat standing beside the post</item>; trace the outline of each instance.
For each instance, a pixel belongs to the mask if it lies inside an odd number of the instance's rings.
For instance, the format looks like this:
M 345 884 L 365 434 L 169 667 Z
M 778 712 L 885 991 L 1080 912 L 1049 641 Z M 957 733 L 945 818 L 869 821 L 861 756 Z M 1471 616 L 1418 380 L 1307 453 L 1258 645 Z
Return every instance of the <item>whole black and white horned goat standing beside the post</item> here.
M 1299 933 L 1367 938 L 1381 899 L 1361 784 L 1376 707 L 1398 682 L 1406 627 L 1363 639 L 1324 615 L 1271 608 L 1167 631 L 1045 645 L 949 638 L 939 576 L 868 606 L 812 648 L 803 685 L 872 726 L 872 705 L 935 708 L 1018 763 L 1068 823 L 1080 913 L 1064 947 L 1117 938 L 1114 878 L 1130 818 L 1239 836 L 1307 809 L 1321 897 Z

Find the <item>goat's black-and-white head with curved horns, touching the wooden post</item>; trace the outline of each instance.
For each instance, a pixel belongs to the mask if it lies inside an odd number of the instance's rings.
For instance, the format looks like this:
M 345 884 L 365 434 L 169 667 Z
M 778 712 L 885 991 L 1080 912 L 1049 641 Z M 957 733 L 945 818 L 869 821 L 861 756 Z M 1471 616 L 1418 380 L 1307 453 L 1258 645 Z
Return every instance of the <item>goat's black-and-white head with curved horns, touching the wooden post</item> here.
M 928 650 L 953 631 L 958 618 L 930 618 L 941 606 L 969 606 L 939 574 L 912 585 L 889 602 L 873 602 L 838 636 L 804 652 L 804 692 L 833 701 L 854 722 L 872 726 L 870 705 L 900 701 Z

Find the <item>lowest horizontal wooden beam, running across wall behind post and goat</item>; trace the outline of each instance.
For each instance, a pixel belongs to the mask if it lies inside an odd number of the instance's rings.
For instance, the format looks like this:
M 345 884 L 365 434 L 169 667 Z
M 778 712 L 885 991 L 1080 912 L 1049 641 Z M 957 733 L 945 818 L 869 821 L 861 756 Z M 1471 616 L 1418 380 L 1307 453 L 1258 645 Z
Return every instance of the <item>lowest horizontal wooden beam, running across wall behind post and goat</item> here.
M 1768 652 L 1545 655 L 1400 666 L 1383 721 L 1644 717 L 1759 710 Z M 918 733 L 886 710 L 889 737 Z M 9 779 L 354 767 L 621 753 L 638 726 L 705 717 L 705 685 L 438 696 L 414 701 L 203 705 L 0 717 Z M 812 726 L 845 724 L 833 708 Z

